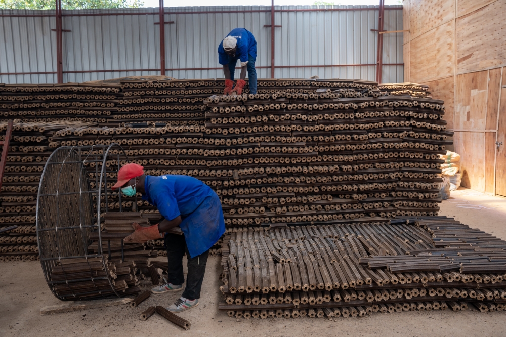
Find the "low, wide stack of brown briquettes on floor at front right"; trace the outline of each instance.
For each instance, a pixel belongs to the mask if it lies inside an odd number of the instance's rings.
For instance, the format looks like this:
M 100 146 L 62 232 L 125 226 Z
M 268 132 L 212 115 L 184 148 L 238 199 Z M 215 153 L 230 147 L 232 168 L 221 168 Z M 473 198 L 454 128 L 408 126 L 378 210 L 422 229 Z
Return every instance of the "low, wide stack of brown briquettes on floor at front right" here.
M 500 311 L 505 248 L 506 242 L 444 217 L 231 228 L 222 248 L 219 309 L 236 318 Z

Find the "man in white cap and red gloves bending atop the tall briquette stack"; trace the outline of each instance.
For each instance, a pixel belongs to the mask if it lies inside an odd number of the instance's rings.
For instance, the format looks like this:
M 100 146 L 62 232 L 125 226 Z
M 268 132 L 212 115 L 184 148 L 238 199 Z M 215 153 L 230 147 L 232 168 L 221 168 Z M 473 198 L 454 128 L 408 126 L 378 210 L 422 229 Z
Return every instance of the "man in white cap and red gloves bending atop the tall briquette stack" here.
M 234 87 L 235 65 L 237 60 L 241 62 L 240 79 Z M 249 79 L 249 93 L 257 93 L 257 41 L 253 34 L 246 28 L 235 28 L 221 41 L 218 46 L 218 61 L 223 65 L 225 73 L 225 90 L 223 95 L 242 94 L 246 85 L 246 69 Z M 233 88 L 233 89 L 232 89 Z

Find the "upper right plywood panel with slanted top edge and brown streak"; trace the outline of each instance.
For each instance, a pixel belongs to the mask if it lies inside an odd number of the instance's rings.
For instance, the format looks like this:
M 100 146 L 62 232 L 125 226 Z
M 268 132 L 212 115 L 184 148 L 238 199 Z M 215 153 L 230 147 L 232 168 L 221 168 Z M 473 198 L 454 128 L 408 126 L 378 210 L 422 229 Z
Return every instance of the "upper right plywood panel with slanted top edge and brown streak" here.
M 506 65 L 506 0 L 456 19 L 457 73 Z

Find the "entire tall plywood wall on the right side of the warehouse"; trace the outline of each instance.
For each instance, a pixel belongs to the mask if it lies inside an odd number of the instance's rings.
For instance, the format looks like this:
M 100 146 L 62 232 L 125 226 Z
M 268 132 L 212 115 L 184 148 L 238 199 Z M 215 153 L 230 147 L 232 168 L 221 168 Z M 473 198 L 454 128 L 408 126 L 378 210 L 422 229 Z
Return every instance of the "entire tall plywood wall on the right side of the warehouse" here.
M 403 1 L 404 81 L 429 85 L 445 101 L 462 185 L 503 196 L 505 17 L 506 0 Z

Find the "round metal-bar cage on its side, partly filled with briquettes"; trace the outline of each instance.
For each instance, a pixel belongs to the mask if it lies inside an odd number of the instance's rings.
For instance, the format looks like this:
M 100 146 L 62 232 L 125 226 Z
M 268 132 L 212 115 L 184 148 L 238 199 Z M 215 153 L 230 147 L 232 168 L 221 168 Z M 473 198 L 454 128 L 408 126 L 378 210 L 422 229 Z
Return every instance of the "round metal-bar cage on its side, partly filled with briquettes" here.
M 114 183 L 126 162 L 113 143 L 60 147 L 44 167 L 37 195 L 38 250 L 46 281 L 60 300 L 120 297 L 102 249 L 101 212 L 110 199 L 119 199 L 121 207 L 121 193 L 107 181 Z M 98 252 L 90 253 L 93 233 Z

